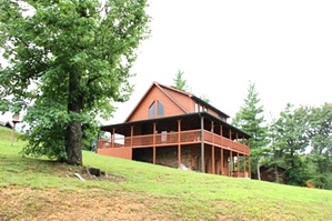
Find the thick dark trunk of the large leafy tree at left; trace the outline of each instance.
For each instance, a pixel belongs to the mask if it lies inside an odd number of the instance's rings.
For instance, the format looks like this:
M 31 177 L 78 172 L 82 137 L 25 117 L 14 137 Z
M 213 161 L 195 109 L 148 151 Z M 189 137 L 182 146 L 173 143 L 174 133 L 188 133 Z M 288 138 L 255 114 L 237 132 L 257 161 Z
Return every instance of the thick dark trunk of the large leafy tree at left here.
M 69 76 L 68 112 L 71 119 L 67 127 L 67 162 L 70 164 L 82 164 L 82 122 L 77 120 L 81 113 L 83 102 L 79 91 L 80 74 L 71 72 Z

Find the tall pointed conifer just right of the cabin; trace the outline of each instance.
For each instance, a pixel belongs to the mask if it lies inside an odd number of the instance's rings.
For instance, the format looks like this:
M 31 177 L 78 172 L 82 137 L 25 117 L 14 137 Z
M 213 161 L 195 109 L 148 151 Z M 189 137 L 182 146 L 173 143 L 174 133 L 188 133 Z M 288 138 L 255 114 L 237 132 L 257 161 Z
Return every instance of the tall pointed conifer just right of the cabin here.
M 260 159 L 269 143 L 269 140 L 266 139 L 268 127 L 264 125 L 265 120 L 263 113 L 264 109 L 263 106 L 260 104 L 255 83 L 250 82 L 244 104 L 240 108 L 240 111 L 235 113 L 232 123 L 251 135 L 249 139 L 250 154 L 252 159 L 251 168 L 252 173 L 258 174 L 258 178 L 260 178 Z

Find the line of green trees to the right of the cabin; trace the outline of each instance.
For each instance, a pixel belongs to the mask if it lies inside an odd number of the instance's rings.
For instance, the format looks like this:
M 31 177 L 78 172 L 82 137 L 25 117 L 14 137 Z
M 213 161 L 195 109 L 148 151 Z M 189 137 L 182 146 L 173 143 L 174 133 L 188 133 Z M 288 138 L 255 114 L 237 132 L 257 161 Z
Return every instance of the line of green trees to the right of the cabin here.
M 255 83 L 250 82 L 232 123 L 251 135 L 253 177 L 260 179 L 260 168 L 264 165 L 274 174 L 275 182 L 332 189 L 332 103 L 320 107 L 286 103 L 268 122 Z M 281 174 L 276 172 L 279 168 Z

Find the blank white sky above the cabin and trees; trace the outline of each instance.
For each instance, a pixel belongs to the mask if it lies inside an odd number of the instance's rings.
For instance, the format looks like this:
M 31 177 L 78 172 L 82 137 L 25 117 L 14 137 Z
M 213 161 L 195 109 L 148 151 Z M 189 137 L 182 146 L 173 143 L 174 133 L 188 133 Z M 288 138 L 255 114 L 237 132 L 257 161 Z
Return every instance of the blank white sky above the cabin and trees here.
M 150 2 L 152 37 L 132 69 L 134 92 L 108 123 L 122 122 L 153 81 L 171 86 L 179 70 L 195 96 L 231 117 L 250 80 L 266 115 L 288 102 L 331 102 L 331 0 Z

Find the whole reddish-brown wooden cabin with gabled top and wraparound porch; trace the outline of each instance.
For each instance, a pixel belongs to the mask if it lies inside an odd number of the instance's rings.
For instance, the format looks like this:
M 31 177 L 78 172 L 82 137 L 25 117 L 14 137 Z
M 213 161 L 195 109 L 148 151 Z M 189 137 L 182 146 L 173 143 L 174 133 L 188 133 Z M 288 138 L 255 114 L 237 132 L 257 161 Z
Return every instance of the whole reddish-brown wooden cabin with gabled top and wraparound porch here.
M 229 177 L 250 175 L 249 134 L 202 99 L 153 82 L 123 123 L 102 125 L 110 138 L 97 152 Z

